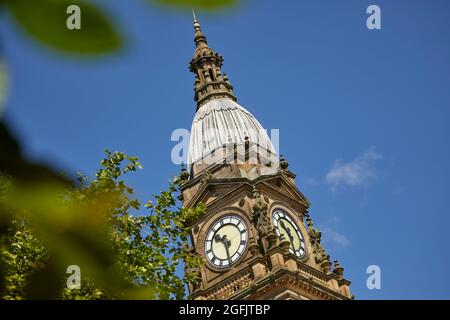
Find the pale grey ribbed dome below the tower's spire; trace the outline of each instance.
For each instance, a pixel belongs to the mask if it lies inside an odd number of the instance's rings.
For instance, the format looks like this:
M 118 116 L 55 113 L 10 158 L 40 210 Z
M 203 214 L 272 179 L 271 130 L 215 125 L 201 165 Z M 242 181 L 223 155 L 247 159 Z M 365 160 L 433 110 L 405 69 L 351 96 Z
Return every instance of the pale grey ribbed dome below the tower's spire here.
M 192 122 L 188 162 L 195 163 L 229 143 L 244 144 L 245 137 L 275 154 L 267 132 L 250 112 L 231 99 L 212 99 L 200 107 Z

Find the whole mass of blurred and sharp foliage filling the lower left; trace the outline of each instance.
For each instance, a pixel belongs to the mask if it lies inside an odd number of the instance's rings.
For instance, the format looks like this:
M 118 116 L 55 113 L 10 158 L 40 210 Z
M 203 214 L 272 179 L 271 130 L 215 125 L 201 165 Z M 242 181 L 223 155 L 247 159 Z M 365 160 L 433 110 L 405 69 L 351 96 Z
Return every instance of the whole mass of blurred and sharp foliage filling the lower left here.
M 186 284 L 198 280 L 195 273 L 180 276 L 180 267 L 195 270 L 202 263 L 184 246 L 186 221 L 203 214 L 204 207 L 177 206 L 177 178 L 142 206 L 123 180 L 141 168 L 138 159 L 107 151 L 100 164 L 95 178 L 80 175 L 75 187 L 58 193 L 33 189 L 30 196 L 20 183 L 0 178 L 0 218 L 9 217 L 0 239 L 1 299 L 54 298 L 41 290 L 43 280 L 64 299 L 181 299 Z M 43 211 L 49 216 L 41 217 Z M 105 223 L 107 232 L 94 234 Z M 68 275 L 61 268 L 73 264 L 81 268 L 81 289 L 65 287 Z M 127 295 L 123 283 L 109 283 L 117 276 L 133 290 L 144 290 Z

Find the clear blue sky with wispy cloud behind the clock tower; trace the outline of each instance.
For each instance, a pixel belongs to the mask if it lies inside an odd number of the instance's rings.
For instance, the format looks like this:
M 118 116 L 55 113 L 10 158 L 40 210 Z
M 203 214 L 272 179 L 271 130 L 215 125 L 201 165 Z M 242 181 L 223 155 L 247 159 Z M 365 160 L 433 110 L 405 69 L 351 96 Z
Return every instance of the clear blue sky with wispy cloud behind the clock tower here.
M 194 117 L 189 12 L 101 2 L 128 38 L 120 53 L 73 60 L 1 14 L 7 116 L 27 153 L 93 173 L 103 149 L 141 158 L 140 198 L 163 190 L 176 128 Z M 370 4 L 382 29 L 366 28 Z M 450 298 L 450 3 L 251 0 L 198 12 L 239 102 L 266 128 L 311 200 L 326 248 L 359 299 Z M 366 288 L 379 265 L 381 290 Z

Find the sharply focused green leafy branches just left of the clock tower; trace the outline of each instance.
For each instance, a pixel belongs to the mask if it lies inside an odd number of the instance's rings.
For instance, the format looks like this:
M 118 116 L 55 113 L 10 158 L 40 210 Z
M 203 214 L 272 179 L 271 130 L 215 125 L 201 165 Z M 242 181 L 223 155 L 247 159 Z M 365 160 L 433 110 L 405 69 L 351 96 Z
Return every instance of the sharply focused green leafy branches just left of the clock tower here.
M 111 216 L 114 232 L 112 243 L 117 252 L 120 265 L 128 280 L 140 285 L 153 285 L 161 298 L 174 295 L 182 298 L 184 286 L 188 281 L 195 280 L 194 275 L 187 274 L 185 278 L 176 275 L 177 267 L 181 261 L 191 265 L 199 263 L 191 253 L 182 250 L 188 240 L 189 230 L 185 222 L 201 215 L 204 207 L 185 209 L 176 207 L 175 194 L 177 182 L 172 181 L 168 191 L 155 196 L 155 203 L 148 201 L 145 208 L 147 215 L 134 216 L 130 212 L 138 210 L 138 200 L 130 198 L 133 190 L 123 181 L 117 179 L 129 171 L 140 167 L 136 158 L 115 152 L 107 152 L 108 157 L 101 164 L 97 172 L 97 180 L 93 181 L 83 194 L 97 192 L 98 189 L 113 186 L 120 194 L 126 195 L 121 199 L 121 205 Z M 128 164 L 120 168 L 121 162 L 126 159 Z

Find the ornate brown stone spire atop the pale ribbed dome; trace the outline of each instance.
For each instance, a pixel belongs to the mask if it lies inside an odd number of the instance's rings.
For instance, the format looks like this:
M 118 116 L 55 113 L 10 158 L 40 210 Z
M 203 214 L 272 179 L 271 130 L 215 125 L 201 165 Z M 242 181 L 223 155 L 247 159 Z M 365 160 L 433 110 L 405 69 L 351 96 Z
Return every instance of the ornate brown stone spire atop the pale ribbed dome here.
M 208 46 L 194 10 L 194 42 L 195 52 L 189 69 L 195 74 L 194 100 L 197 110 L 207 101 L 217 98 L 229 98 L 236 101 L 233 86 L 228 76 L 222 73 L 223 57 Z

